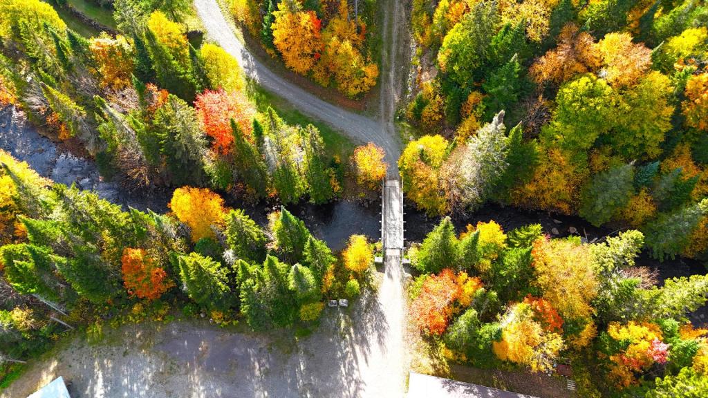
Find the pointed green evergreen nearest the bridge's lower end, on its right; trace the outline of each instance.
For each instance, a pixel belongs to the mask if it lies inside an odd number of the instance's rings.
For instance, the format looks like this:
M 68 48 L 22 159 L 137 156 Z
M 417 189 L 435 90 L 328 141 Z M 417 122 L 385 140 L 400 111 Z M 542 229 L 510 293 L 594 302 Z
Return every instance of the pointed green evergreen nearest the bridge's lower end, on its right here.
M 455 226 L 445 217 L 423 240 L 418 250 L 416 268 L 425 273 L 438 273 L 444 268 L 459 268 L 459 247 Z

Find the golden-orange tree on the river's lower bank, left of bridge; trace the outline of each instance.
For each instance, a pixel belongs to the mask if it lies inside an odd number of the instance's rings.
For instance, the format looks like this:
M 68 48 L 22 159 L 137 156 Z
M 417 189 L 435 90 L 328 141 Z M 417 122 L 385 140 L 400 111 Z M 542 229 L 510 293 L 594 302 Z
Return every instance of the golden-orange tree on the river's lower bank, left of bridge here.
M 212 225 L 224 220 L 224 200 L 207 188 L 185 186 L 172 194 L 169 207 L 177 218 L 187 224 L 192 233 L 192 241 L 214 237 Z

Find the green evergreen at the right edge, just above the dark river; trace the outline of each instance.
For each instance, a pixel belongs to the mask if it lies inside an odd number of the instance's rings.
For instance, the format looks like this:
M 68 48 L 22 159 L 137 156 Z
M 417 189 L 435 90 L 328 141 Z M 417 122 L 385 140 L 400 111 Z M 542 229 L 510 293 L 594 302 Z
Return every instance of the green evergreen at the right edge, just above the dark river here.
M 708 199 L 659 215 L 646 227 L 646 246 L 654 258 L 675 258 L 690 244 L 690 235 L 702 216 L 708 214 Z

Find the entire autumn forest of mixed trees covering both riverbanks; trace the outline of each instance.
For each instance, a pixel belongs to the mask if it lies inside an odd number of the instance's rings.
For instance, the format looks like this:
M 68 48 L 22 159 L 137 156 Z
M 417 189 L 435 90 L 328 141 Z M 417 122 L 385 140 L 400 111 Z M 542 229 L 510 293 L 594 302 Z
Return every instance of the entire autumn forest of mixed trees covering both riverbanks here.
M 0 149 L 0 388 L 64 336 L 205 318 L 234 334 L 346 341 L 353 313 L 389 300 L 413 337 L 371 332 L 347 349 L 395 340 L 413 357 L 401 374 L 418 356 L 549 378 L 570 365 L 578 397 L 708 396 L 708 329 L 690 319 L 708 275 L 660 278 L 643 263 L 708 266 L 704 1 L 404 2 L 398 112 L 356 114 L 382 126 L 376 142 L 266 93 L 200 30 L 191 1 L 92 0 L 113 16 L 95 35 L 57 13 L 67 1 L 0 0 L 0 105 L 94 162 L 101 181 L 169 203 L 122 206 Z M 392 52 L 385 5 L 218 6 L 273 73 L 380 99 L 384 113 L 399 98 L 379 70 Z M 399 153 L 382 149 L 386 123 Z M 374 207 L 396 178 L 401 213 L 435 224 L 406 224 L 422 241 L 406 240 L 400 263 L 354 227 L 334 250 L 293 210 Z M 490 205 L 607 233 L 467 222 Z M 334 299 L 350 312 L 328 313 Z M 393 322 L 385 305 L 365 322 Z

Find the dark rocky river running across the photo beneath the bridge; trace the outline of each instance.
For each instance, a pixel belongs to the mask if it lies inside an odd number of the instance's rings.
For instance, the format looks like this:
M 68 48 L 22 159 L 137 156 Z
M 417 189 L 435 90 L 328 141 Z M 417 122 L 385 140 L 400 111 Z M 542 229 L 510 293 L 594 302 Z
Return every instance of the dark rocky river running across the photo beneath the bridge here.
M 90 159 L 74 156 L 60 144 L 52 142 L 40 135 L 39 130 L 27 122 L 25 115 L 13 107 L 0 110 L 0 149 L 13 154 L 17 159 L 27 161 L 33 169 L 42 176 L 53 181 L 71 185 L 76 183 L 83 189 L 96 191 L 101 198 L 111 200 L 123 206 L 135 207 L 139 210 L 148 208 L 156 212 L 165 212 L 171 198 L 171 191 L 152 193 L 135 193 L 129 195 L 115 183 L 102 181 L 96 165 Z M 241 207 L 265 226 L 268 223 L 268 213 L 278 210 L 275 203 L 258 203 L 244 205 L 235 200 L 227 199 L 232 207 Z M 440 222 L 440 217 L 426 217 L 423 212 L 415 210 L 411 203 L 406 203 L 405 238 L 406 243 L 422 241 L 426 234 Z M 300 203 L 288 205 L 287 209 L 304 220 L 307 227 L 319 239 L 323 239 L 334 251 L 340 251 L 346 246 L 351 234 L 365 234 L 372 241 L 381 237 L 380 204 L 361 205 L 346 200 L 339 200 L 326 205 Z M 465 217 L 454 217 L 453 222 L 457 232 L 462 232 L 467 224 L 479 221 L 494 220 L 509 231 L 515 227 L 538 223 L 544 232 L 554 237 L 566 237 L 577 234 L 587 241 L 602 239 L 616 231 L 593 227 L 580 217 L 552 215 L 548 212 L 524 210 L 516 207 L 486 205 L 480 210 Z M 663 263 L 654 260 L 647 253 L 642 253 L 637 261 L 640 266 L 656 268 L 661 283 L 667 278 L 707 273 L 706 268 L 698 261 L 687 258 L 676 258 Z M 708 307 L 703 307 L 691 315 L 695 324 L 707 324 Z

